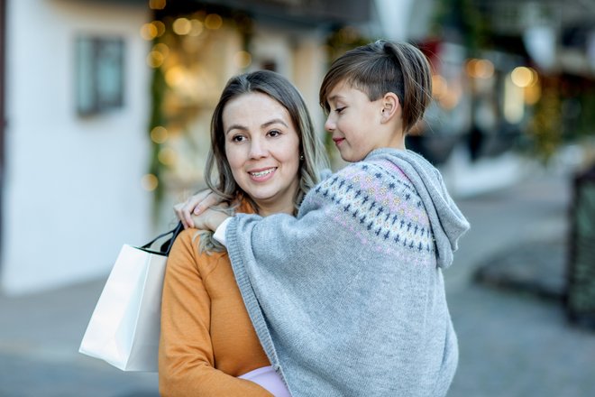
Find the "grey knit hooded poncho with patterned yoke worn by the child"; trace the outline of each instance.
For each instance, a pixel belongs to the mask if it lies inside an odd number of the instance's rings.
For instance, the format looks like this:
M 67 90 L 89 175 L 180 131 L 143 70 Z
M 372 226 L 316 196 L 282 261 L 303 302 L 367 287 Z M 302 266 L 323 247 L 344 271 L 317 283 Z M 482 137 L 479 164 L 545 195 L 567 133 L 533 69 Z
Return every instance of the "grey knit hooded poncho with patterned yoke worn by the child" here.
M 468 228 L 434 166 L 380 149 L 310 190 L 298 217 L 238 215 L 225 238 L 294 397 L 440 397 L 458 362 L 442 269 Z

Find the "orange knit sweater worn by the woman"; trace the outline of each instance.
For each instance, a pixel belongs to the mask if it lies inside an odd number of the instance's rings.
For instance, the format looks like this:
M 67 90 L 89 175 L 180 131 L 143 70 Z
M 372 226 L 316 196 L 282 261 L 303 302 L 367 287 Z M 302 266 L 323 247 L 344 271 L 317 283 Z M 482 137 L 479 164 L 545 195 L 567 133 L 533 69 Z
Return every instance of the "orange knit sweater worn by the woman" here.
M 252 213 L 244 202 L 238 212 Z M 183 231 L 167 263 L 161 307 L 159 388 L 163 396 L 270 396 L 239 379 L 270 365 L 256 336 L 227 253 L 198 253 Z

